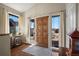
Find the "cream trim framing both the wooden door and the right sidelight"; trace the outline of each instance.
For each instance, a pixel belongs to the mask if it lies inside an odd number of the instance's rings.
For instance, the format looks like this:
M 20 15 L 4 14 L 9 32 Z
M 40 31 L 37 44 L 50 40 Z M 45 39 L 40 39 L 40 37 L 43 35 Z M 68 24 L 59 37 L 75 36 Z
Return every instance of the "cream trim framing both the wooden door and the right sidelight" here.
M 58 11 L 58 12 L 52 12 L 52 13 L 49 13 L 49 14 L 45 14 L 45 15 L 39 15 L 39 16 L 34 16 L 34 17 L 31 17 L 31 18 L 33 18 L 34 20 L 35 20 L 35 41 L 36 41 L 36 29 L 37 29 L 37 23 L 36 23 L 36 18 L 38 18 L 38 17 L 44 17 L 44 16 L 49 16 L 48 17 L 48 48 L 51 48 L 52 47 L 52 43 L 51 43 L 51 18 L 52 18 L 52 16 L 54 16 L 54 15 L 61 15 L 61 21 L 62 21 L 62 24 L 63 24 L 63 26 L 65 26 L 64 25 L 64 23 L 65 23 L 65 17 L 64 17 L 64 14 L 65 14 L 65 12 L 64 12 L 64 10 L 63 11 Z M 62 25 L 61 24 L 61 25 Z M 63 33 L 62 33 L 62 35 L 64 34 L 64 29 L 65 29 L 65 27 L 63 27 L 62 26 L 62 28 L 63 28 Z M 30 33 L 30 31 L 29 31 L 29 33 Z M 62 36 L 61 35 L 61 36 Z M 30 37 L 29 37 L 30 38 Z M 62 44 L 61 44 L 61 41 L 63 42 Z M 62 36 L 62 39 L 61 39 L 61 41 L 60 41 L 60 47 L 64 47 L 65 46 L 65 43 L 66 42 L 64 42 L 65 41 L 65 34 Z M 37 42 L 36 42 L 36 44 L 37 44 Z

